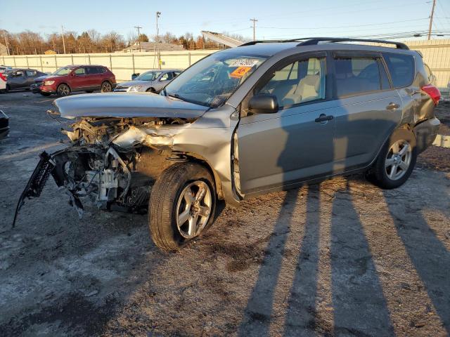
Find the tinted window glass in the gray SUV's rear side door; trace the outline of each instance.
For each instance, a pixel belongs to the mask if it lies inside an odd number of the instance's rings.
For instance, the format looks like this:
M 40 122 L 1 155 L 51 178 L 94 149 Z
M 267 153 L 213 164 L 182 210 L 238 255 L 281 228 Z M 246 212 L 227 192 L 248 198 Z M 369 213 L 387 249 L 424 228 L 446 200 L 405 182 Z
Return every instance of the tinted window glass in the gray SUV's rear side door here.
M 380 76 L 382 64 L 379 58 L 338 57 L 334 58 L 334 64 L 338 97 L 382 90 L 383 77 Z M 387 76 L 383 79 L 384 88 L 389 88 Z

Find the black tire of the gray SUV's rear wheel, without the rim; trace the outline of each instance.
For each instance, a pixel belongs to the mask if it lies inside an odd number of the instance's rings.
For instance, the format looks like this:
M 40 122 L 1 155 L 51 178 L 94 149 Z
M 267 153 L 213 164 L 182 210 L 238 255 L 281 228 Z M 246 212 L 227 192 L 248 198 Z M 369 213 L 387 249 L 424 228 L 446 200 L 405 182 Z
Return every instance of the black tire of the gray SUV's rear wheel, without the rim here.
M 407 144 L 411 146 L 411 159 L 409 161 L 409 166 L 406 170 L 404 170 L 400 178 L 393 180 L 387 173 L 388 170 L 386 168 L 387 157 L 392 153 L 390 152 L 392 145 L 394 145 L 397 142 L 405 142 L 405 141 L 407 142 Z M 378 154 L 375 163 L 373 163 L 373 166 L 367 172 L 366 178 L 368 178 L 368 180 L 371 181 L 371 183 L 373 183 L 374 185 L 377 185 L 378 187 L 387 190 L 397 188 L 403 185 L 406 182 L 406 180 L 408 180 L 409 176 L 411 176 L 414 166 L 416 165 L 416 160 L 417 160 L 416 137 L 414 136 L 414 133 L 412 133 L 411 131 L 406 130 L 404 128 L 400 128 L 394 131 L 390 139 L 385 143 L 383 149 L 381 149 L 380 151 L 380 154 Z M 393 168 L 391 167 L 390 169 L 392 170 Z

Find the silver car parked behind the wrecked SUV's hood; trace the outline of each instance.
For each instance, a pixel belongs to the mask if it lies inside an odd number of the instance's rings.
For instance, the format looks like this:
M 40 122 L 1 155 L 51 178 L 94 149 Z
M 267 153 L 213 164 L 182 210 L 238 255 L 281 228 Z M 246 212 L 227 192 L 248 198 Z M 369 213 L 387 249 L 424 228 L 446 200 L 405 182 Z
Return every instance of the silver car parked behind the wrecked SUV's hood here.
M 117 84 L 114 91 L 148 91 L 152 93 L 159 93 L 164 86 L 169 84 L 172 79 L 177 77 L 181 73 L 181 70 L 171 69 L 171 70 L 150 70 L 139 74 L 131 81 L 122 82 Z M 134 77 L 135 74 L 132 75 Z

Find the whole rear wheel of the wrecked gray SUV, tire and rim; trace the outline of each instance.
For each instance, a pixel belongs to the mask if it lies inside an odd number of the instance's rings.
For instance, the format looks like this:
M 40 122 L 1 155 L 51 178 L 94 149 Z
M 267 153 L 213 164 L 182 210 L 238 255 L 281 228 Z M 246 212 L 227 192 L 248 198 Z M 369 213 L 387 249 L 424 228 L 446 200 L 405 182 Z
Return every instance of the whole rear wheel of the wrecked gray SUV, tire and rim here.
M 368 172 L 368 179 L 385 189 L 403 185 L 416 165 L 416 138 L 411 131 L 399 129 L 383 146 L 373 167 Z

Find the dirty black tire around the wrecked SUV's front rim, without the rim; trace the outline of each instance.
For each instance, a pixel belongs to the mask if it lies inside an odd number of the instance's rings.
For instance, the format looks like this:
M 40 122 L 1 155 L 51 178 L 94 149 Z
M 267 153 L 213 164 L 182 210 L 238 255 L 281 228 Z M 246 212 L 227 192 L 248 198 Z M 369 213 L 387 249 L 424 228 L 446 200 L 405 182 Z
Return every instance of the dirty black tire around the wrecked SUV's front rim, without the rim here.
M 210 188 L 211 206 L 209 218 L 203 230 L 195 237 L 184 237 L 177 224 L 179 215 L 178 201 L 182 199 L 182 192 L 189 185 L 203 182 Z M 164 251 L 176 251 L 203 234 L 214 222 L 217 205 L 217 195 L 212 174 L 205 166 L 194 162 L 177 163 L 169 166 L 153 185 L 148 205 L 148 226 L 153 242 Z

